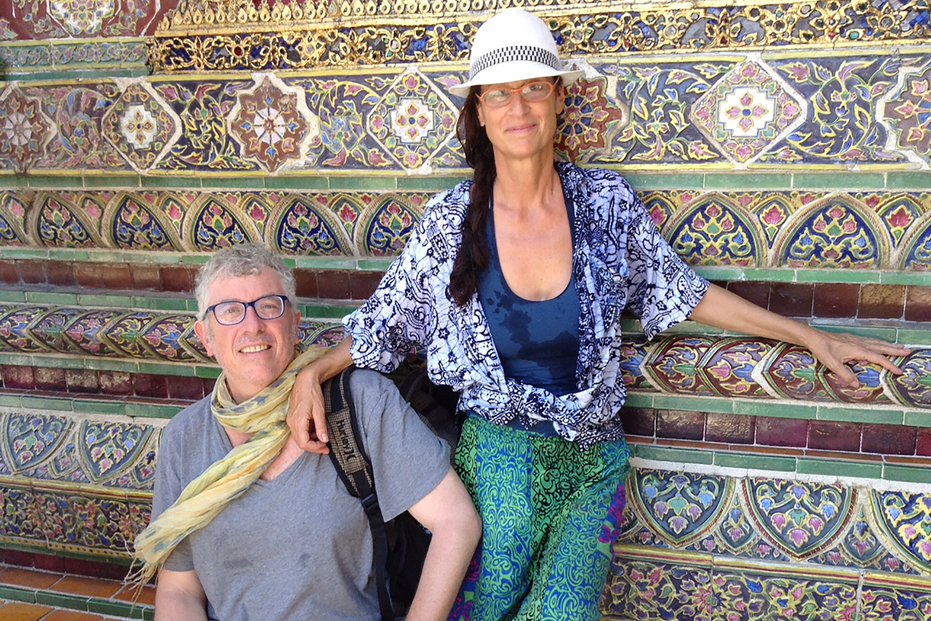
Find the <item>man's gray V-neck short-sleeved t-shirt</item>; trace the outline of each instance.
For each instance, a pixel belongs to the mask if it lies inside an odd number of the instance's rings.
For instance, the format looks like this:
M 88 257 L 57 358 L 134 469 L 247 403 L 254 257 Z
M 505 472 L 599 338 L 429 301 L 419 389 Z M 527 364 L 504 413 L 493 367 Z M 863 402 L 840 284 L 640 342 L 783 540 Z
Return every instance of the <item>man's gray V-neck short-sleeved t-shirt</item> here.
M 394 384 L 358 370 L 350 391 L 385 520 L 432 491 L 449 471 L 449 448 Z M 209 398 L 179 412 L 162 433 L 152 517 L 232 449 Z M 165 563 L 196 570 L 221 621 L 379 619 L 369 521 L 329 455 L 305 452 L 274 480 L 256 481 Z

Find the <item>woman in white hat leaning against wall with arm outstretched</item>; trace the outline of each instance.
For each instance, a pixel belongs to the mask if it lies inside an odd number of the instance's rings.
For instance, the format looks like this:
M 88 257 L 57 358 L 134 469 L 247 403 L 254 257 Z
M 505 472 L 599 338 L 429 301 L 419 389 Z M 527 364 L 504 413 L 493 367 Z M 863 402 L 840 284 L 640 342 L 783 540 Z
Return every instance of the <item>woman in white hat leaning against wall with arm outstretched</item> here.
M 803 344 L 844 366 L 908 351 L 779 317 L 698 277 L 621 177 L 554 164 L 565 84 L 542 20 L 507 9 L 479 28 L 457 133 L 475 169 L 437 196 L 378 290 L 344 318 L 347 338 L 308 366 L 289 425 L 325 450 L 318 385 L 344 367 L 392 370 L 411 350 L 463 391 L 456 469 L 484 522 L 478 572 L 453 615 L 594 619 L 624 504 L 618 418 L 625 307 L 656 333 L 693 318 Z M 313 412 L 313 420 L 311 420 Z M 312 429 L 320 429 L 312 438 Z M 470 605 L 465 605 L 466 601 Z

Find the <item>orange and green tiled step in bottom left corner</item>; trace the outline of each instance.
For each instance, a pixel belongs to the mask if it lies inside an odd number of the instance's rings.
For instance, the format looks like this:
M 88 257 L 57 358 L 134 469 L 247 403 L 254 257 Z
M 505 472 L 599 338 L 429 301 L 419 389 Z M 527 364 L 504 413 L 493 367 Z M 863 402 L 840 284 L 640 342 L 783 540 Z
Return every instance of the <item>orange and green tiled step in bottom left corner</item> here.
M 0 565 L 0 621 L 153 619 L 155 588 Z

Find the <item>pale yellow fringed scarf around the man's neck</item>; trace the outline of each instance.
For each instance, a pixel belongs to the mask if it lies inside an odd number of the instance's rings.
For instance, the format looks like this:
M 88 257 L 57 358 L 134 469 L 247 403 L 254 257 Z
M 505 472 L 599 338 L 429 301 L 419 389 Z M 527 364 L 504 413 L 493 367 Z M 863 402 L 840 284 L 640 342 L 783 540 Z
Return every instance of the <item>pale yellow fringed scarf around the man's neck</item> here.
M 294 377 L 327 351 L 325 347 L 317 347 L 299 352 L 275 382 L 242 403 L 230 397 L 225 377 L 220 374 L 213 386 L 210 410 L 224 427 L 255 435 L 188 483 L 178 500 L 139 533 L 134 557 L 142 561 L 142 567 L 128 577 L 129 582 L 137 585 L 148 582 L 184 537 L 207 526 L 275 461 L 290 437 L 285 417 Z

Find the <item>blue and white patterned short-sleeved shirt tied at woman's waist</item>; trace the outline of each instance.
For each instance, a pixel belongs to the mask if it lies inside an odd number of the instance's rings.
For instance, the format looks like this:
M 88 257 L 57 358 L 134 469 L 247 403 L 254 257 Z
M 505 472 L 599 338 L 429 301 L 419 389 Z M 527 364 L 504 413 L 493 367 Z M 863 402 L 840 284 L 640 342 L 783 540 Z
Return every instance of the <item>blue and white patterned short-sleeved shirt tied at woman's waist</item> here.
M 391 371 L 416 345 L 426 355 L 430 379 L 462 391 L 460 410 L 499 425 L 516 417 L 525 425 L 551 420 L 561 437 L 585 450 L 624 437 L 618 418 L 627 398 L 621 311 L 630 307 L 653 338 L 692 313 L 708 281 L 669 248 L 622 177 L 568 163 L 556 168 L 575 206 L 573 277 L 582 306 L 578 392 L 555 396 L 506 378 L 478 297 L 459 307 L 447 296 L 472 182 L 427 204 L 378 289 L 343 323 L 359 367 Z

